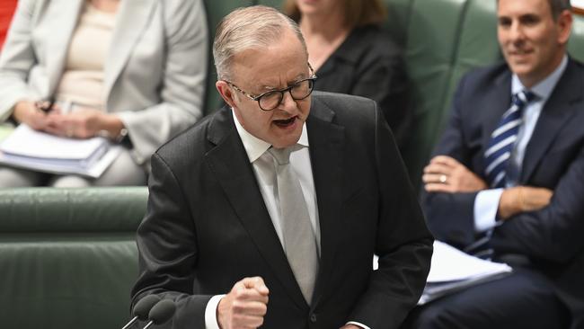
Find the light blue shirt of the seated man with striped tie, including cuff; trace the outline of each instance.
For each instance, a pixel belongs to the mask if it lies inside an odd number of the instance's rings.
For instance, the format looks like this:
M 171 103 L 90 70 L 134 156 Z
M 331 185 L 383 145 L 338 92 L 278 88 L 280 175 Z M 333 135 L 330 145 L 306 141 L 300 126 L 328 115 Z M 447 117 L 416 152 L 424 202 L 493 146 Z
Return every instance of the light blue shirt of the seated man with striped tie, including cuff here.
M 562 63 L 558 66 L 551 75 L 547 76 L 540 83 L 535 84 L 530 91 L 537 95 L 535 101 L 527 103 L 523 114 L 523 123 L 519 127 L 518 140 L 513 147 L 513 152 L 509 161 L 511 164 L 515 165 L 517 168 L 521 168 L 523 164 L 523 158 L 526 154 L 526 147 L 529 143 L 529 139 L 534 133 L 535 124 L 539 115 L 544 108 L 545 102 L 550 98 L 553 92 L 553 88 L 560 80 L 563 75 L 566 66 L 568 65 L 568 57 L 564 55 Z M 511 94 L 519 93 L 527 88 L 521 84 L 519 77 L 513 75 L 511 77 Z M 519 170 L 520 172 L 520 170 Z M 513 187 L 517 185 L 517 182 L 507 182 L 506 187 Z M 480 191 L 476 198 L 474 199 L 474 229 L 476 232 L 486 232 L 491 230 L 500 224 L 497 221 L 497 210 L 499 209 L 500 196 L 503 193 L 502 188 L 500 189 L 490 189 Z

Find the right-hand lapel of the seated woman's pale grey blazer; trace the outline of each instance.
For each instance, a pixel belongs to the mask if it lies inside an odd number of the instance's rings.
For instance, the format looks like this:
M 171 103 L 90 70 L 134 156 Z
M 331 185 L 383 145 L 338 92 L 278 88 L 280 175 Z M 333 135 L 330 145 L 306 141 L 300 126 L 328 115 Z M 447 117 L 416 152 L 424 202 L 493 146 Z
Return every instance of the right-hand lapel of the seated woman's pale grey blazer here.
M 154 0 L 131 0 L 119 3 L 111 47 L 105 61 L 104 95 L 106 99 L 122 68 L 128 62 L 137 40 L 144 32 L 146 23 L 152 19 L 150 16 L 154 8 Z

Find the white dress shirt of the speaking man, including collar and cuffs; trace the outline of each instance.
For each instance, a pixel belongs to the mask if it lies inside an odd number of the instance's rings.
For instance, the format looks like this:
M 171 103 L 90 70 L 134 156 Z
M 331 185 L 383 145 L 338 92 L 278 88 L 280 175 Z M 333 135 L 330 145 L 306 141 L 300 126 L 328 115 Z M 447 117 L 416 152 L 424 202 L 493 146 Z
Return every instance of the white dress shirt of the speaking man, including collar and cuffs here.
M 276 160 L 266 152 L 271 145 L 260 138 L 256 138 L 247 130 L 243 129 L 243 126 L 239 120 L 237 120 L 234 113 L 233 117 L 235 128 L 237 129 L 239 137 L 242 139 L 243 148 L 245 148 L 247 157 L 252 164 L 255 178 L 258 185 L 260 185 L 261 197 L 266 204 L 271 222 L 278 234 L 279 242 L 282 244 L 284 250 L 286 250 L 282 233 L 282 218 L 279 213 L 278 186 L 275 184 L 277 182 L 275 172 Z M 300 135 L 297 144 L 302 147 L 290 154 L 290 165 L 300 181 L 300 187 L 302 188 L 302 193 L 305 197 L 308 216 L 310 217 L 310 223 L 313 227 L 314 235 L 316 236 L 316 246 L 320 257 L 321 228 L 318 220 L 318 204 L 316 202 L 316 193 L 314 190 L 313 169 L 310 162 L 310 153 L 308 151 L 308 133 L 305 124 L 302 127 L 302 135 Z M 205 326 L 207 329 L 219 328 L 216 316 L 217 306 L 221 298 L 224 296 L 225 295 L 217 295 L 209 300 L 205 309 Z M 367 325 L 361 325 L 356 322 L 349 322 L 348 324 L 358 325 L 364 329 L 369 329 Z

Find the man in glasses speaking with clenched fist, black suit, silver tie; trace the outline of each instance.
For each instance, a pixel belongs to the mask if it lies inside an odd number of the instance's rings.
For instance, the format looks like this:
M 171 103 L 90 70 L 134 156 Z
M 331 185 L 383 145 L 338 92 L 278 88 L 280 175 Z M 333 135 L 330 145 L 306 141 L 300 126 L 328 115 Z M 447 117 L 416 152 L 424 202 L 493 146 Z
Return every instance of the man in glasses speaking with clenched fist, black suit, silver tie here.
M 153 156 L 133 303 L 172 298 L 177 329 L 398 328 L 432 237 L 376 103 L 311 95 L 302 35 L 268 7 L 227 15 L 214 58 L 232 111 Z

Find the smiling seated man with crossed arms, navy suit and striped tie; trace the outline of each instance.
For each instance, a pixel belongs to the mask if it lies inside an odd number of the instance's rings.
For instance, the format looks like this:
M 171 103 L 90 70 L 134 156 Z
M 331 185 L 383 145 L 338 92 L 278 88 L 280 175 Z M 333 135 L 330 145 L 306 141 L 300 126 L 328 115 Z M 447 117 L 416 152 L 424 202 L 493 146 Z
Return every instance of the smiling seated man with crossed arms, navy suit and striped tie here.
M 419 307 L 414 328 L 584 327 L 584 67 L 568 0 L 499 0 L 505 64 L 460 82 L 423 174 L 437 239 L 513 273 Z

